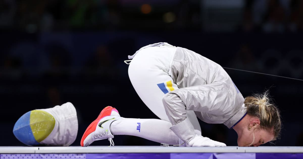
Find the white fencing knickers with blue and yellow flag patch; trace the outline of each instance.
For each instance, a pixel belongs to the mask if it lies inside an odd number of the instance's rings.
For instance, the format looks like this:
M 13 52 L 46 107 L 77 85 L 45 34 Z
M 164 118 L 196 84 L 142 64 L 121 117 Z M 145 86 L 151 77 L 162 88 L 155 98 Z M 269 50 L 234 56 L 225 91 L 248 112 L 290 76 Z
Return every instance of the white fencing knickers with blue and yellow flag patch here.
M 132 56 L 128 67 L 129 79 L 145 105 L 161 120 L 169 122 L 162 103 L 164 95 L 179 89 L 169 70 L 176 47 L 168 43 L 155 43 L 140 48 Z M 201 135 L 201 127 L 194 111 L 187 111 L 187 118 Z

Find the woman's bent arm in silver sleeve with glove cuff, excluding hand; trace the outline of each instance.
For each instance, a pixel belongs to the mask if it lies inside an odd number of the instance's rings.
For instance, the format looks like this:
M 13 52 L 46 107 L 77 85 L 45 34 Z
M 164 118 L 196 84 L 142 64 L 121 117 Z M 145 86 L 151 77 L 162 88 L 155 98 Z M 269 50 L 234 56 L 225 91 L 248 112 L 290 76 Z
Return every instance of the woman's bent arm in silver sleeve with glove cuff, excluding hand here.
M 196 138 L 197 134 L 186 116 L 186 110 L 211 114 L 222 113 L 221 104 L 225 105 L 224 102 L 228 101 L 223 100 L 226 91 L 216 88 L 219 87 L 215 84 L 181 88 L 167 93 L 162 99 L 166 114 L 172 124 L 170 129 L 187 144 Z

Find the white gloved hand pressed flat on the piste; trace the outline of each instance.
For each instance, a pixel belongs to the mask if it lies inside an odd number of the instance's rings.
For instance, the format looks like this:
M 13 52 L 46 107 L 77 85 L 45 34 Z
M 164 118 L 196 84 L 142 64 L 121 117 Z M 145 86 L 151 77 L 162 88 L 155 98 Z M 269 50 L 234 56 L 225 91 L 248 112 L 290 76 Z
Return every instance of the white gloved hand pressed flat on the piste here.
M 226 144 L 218 141 L 211 140 L 208 137 L 198 136 L 196 135 L 193 139 L 191 139 L 187 146 L 194 147 L 226 147 Z

